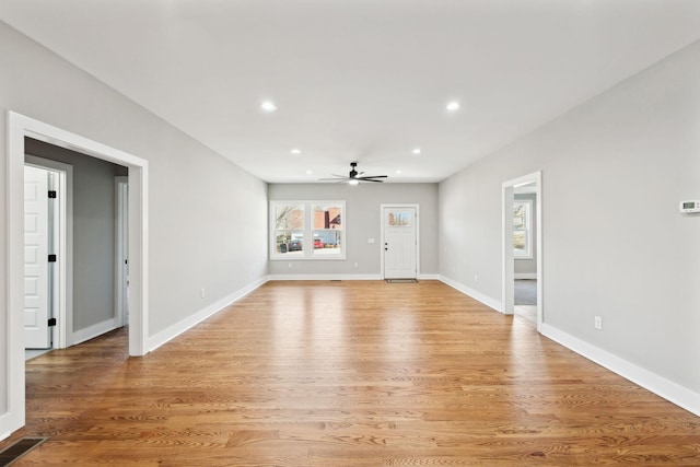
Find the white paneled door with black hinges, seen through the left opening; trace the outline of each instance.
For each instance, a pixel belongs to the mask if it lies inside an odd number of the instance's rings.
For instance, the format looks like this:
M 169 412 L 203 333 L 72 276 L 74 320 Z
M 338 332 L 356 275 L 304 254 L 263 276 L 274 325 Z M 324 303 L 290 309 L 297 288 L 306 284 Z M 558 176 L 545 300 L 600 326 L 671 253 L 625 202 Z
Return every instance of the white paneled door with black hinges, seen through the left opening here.
M 24 167 L 24 347 L 51 347 L 48 172 Z

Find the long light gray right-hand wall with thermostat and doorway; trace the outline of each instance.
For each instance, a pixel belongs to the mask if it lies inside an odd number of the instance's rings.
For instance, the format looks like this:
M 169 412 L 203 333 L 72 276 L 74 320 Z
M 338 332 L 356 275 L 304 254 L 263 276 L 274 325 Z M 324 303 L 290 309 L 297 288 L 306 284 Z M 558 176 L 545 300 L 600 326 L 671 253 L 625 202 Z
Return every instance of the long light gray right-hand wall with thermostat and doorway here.
M 443 182 L 445 278 L 500 302 L 501 183 L 538 170 L 546 334 L 700 413 L 700 43 Z

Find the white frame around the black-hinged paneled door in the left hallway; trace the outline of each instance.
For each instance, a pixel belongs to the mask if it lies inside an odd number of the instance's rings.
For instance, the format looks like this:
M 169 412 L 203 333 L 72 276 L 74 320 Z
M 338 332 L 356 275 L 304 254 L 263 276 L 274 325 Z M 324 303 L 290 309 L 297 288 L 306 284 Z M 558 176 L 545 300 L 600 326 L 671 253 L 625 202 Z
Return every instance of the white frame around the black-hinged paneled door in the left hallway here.
M 65 349 L 73 329 L 73 166 L 33 154 L 24 155 L 24 164 L 58 174 L 58 245 L 56 261 L 55 317 L 58 325 L 51 330 L 54 349 Z

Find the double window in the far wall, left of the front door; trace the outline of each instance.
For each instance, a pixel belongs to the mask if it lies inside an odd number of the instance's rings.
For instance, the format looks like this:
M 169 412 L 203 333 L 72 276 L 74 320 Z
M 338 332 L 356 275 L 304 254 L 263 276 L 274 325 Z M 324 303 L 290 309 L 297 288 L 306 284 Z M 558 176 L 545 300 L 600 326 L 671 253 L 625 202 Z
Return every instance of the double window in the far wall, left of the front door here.
M 271 201 L 271 259 L 345 259 L 345 201 Z

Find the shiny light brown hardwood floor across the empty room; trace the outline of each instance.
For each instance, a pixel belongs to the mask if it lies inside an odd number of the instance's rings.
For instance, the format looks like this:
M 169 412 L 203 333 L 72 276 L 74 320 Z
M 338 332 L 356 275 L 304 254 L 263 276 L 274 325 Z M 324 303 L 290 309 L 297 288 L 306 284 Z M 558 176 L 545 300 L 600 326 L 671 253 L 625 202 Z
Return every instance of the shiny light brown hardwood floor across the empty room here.
M 16 466 L 700 465 L 700 419 L 436 281 L 269 282 L 27 362 Z

